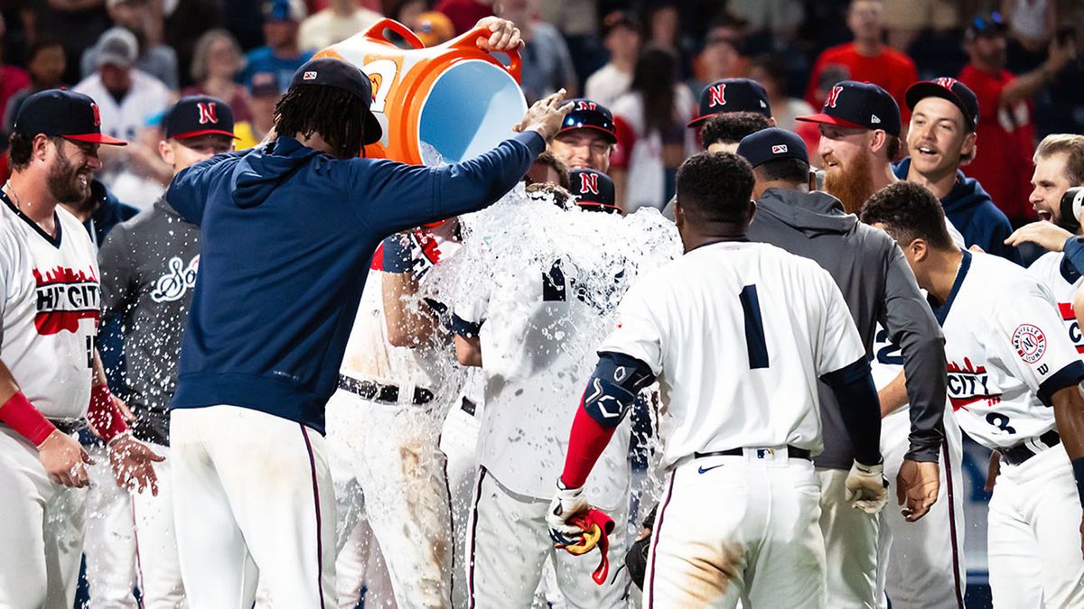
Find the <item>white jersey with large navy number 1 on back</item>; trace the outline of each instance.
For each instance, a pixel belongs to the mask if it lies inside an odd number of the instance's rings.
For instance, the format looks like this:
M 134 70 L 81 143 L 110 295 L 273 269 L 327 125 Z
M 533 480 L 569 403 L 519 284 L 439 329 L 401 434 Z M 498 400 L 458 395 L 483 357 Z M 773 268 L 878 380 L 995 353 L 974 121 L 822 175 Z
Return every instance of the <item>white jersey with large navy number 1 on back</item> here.
M 823 449 L 817 378 L 865 357 L 831 275 L 777 247 L 701 246 L 638 282 L 599 351 L 651 366 L 662 465 L 694 453 Z

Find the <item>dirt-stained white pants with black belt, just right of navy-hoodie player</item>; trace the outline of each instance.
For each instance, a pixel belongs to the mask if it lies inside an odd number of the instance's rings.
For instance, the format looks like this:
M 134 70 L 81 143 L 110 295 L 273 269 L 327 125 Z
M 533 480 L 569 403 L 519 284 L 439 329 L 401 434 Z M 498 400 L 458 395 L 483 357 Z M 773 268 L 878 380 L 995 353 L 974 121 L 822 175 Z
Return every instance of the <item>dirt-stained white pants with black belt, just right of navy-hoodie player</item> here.
M 327 402 L 338 489 L 353 478 L 400 609 L 452 602 L 452 531 L 441 420 L 426 407 L 363 400 L 338 390 Z

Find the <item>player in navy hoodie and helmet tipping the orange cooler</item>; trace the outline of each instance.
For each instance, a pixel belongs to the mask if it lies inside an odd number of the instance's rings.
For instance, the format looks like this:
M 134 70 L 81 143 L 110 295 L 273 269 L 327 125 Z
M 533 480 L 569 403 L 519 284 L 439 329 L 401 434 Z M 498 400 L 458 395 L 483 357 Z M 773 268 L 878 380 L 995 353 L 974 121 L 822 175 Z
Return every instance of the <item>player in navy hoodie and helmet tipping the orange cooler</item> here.
M 511 22 L 486 23 L 486 48 L 518 46 Z M 317 59 L 280 100 L 273 141 L 173 178 L 166 200 L 202 231 L 169 430 L 194 608 L 248 606 L 257 572 L 276 606 L 335 605 L 324 404 L 373 250 L 388 234 L 500 198 L 557 132 L 563 96 L 456 165 L 358 158 L 382 134 L 372 83 L 351 64 Z

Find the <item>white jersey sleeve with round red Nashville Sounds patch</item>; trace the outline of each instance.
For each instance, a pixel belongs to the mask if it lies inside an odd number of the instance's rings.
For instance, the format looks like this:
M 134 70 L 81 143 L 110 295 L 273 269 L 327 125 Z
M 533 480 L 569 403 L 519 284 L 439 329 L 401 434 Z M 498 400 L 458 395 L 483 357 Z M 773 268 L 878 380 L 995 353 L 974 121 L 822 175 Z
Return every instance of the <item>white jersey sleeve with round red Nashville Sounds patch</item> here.
M 998 299 L 990 327 L 1014 376 L 1045 403 L 1059 389 L 1075 385 L 1084 373 L 1057 307 L 1046 286 L 1036 283 L 1014 298 Z

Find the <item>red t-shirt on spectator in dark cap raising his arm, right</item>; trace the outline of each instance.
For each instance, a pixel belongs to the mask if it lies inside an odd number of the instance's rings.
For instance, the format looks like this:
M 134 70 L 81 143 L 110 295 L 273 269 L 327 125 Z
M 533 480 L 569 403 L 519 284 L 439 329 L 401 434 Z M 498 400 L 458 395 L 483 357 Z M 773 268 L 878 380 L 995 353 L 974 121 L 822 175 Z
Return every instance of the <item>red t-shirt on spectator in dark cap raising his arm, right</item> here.
M 975 159 L 960 169 L 982 184 L 994 205 L 1010 220 L 1034 219 L 1035 212 L 1028 203 L 1035 168 L 1031 161 L 1035 152 L 1031 101 L 1017 102 L 1011 107 L 1002 105 L 1002 90 L 1016 78 L 1005 69 L 990 74 L 968 64 L 958 78 L 979 98 Z

